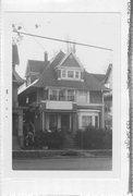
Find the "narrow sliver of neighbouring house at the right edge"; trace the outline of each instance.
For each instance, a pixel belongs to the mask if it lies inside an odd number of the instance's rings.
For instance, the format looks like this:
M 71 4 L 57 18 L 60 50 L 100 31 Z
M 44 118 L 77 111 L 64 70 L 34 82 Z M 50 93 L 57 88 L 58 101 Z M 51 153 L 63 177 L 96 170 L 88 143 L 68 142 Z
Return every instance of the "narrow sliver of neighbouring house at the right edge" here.
M 112 64 L 109 64 L 104 82 L 105 86 L 109 89 L 104 95 L 105 126 L 107 128 L 112 128 Z

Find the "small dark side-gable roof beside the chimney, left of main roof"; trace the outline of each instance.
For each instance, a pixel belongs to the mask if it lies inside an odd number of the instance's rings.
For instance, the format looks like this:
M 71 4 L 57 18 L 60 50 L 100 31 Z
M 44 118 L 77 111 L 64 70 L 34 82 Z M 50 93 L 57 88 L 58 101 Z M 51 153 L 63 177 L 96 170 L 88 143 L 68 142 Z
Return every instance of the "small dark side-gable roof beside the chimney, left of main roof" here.
M 27 76 L 29 72 L 41 73 L 48 63 L 49 62 L 45 61 L 28 60 L 25 76 Z

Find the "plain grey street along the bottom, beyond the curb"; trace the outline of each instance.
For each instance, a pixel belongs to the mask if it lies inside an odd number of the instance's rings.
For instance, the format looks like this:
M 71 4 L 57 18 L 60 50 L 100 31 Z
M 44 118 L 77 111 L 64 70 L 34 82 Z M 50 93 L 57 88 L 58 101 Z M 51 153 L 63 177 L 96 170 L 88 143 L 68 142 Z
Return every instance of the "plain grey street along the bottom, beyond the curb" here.
M 101 170 L 112 168 L 111 157 L 13 159 L 13 170 Z

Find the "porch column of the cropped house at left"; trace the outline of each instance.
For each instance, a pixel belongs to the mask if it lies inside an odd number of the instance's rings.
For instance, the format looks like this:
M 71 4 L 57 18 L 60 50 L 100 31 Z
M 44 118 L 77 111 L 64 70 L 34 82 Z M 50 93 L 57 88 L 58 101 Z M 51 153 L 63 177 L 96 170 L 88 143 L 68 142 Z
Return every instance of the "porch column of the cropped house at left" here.
M 23 147 L 24 137 L 23 137 L 23 112 L 19 113 L 19 131 L 17 131 L 20 146 Z

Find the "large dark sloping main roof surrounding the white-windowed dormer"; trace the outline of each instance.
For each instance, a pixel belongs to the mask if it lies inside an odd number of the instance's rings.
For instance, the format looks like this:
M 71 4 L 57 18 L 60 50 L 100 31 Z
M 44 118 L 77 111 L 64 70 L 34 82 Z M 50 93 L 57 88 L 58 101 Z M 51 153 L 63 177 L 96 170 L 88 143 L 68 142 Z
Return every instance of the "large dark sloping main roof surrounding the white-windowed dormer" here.
M 104 90 L 107 89 L 101 83 L 101 78 L 105 75 L 100 74 L 90 74 L 86 71 L 83 72 L 84 79 L 83 81 L 66 81 L 66 79 L 58 79 L 57 72 L 55 68 L 58 68 L 60 62 L 63 62 L 65 58 L 64 52 L 60 51 L 46 66 L 44 72 L 40 74 L 38 81 L 33 85 L 33 87 L 69 87 L 75 89 L 86 89 L 86 90 Z

